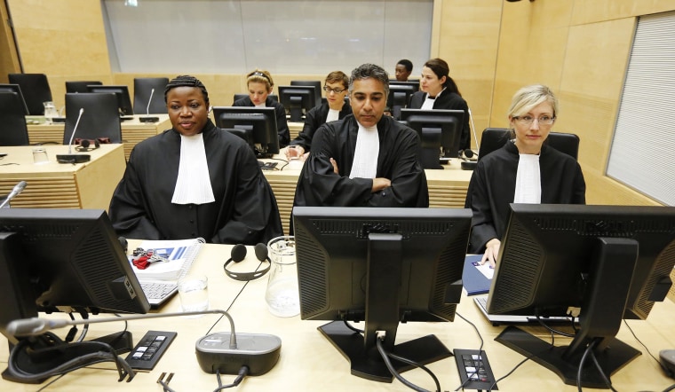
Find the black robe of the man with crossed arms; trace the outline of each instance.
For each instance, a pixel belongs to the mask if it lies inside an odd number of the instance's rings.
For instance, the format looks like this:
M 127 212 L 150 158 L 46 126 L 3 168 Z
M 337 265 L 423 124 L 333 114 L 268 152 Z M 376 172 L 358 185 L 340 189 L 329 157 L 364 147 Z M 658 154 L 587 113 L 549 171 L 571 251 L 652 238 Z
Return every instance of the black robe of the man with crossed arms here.
M 294 205 L 429 207 L 425 170 L 417 161 L 417 132 L 387 115 L 377 122 L 377 177 L 390 179 L 392 186 L 373 193 L 371 178 L 349 178 L 358 129 L 356 119 L 349 114 L 316 131 L 312 152 L 298 178 Z M 333 171 L 331 157 L 338 161 L 339 174 Z

